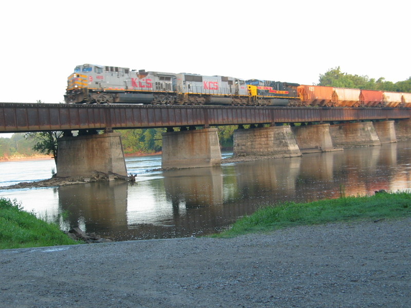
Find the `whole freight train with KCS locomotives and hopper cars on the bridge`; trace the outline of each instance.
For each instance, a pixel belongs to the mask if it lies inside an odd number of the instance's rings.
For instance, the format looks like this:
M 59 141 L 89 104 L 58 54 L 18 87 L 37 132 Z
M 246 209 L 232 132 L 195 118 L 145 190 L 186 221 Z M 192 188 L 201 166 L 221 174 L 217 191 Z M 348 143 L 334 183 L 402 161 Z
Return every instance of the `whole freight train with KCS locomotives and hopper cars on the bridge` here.
M 411 107 L 411 93 L 92 64 L 74 68 L 64 100 L 76 104 Z

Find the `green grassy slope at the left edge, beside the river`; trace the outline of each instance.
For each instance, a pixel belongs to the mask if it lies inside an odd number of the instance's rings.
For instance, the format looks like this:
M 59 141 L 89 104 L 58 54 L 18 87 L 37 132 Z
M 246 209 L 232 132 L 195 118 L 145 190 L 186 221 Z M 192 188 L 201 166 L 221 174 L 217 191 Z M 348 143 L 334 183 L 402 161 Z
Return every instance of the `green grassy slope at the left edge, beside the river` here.
M 57 224 L 36 218 L 15 201 L 0 198 L 0 249 L 71 244 L 78 242 L 65 235 Z

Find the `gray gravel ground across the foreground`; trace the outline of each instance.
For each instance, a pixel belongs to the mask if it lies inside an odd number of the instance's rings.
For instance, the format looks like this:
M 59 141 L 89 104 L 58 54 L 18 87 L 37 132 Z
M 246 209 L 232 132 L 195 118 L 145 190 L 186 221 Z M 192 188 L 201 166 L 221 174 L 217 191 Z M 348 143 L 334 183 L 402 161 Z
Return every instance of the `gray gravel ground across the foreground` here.
M 0 251 L 0 306 L 410 307 L 411 219 Z

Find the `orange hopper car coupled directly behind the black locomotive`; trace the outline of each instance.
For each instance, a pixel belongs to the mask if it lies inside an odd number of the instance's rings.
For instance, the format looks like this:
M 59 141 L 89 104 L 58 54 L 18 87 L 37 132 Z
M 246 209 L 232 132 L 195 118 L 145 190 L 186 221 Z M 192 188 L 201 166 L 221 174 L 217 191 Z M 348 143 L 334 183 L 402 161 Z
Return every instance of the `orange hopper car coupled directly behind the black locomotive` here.
M 306 85 L 297 87 L 297 93 L 303 106 L 331 106 L 333 91 L 333 87 Z

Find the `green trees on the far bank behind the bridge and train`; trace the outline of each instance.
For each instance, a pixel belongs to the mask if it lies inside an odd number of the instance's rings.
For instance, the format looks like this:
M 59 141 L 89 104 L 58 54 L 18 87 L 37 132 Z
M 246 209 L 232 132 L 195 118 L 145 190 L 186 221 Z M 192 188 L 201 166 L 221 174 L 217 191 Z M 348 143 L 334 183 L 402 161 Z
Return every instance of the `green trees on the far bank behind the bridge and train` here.
M 356 88 L 366 90 L 383 90 L 411 93 L 411 77 L 396 83 L 384 78 L 373 79 L 368 76 L 353 75 L 335 67 L 320 74 L 319 86 Z M 42 103 L 38 101 L 38 103 Z M 233 133 L 237 125 L 219 126 L 218 138 L 222 149 L 233 147 Z M 145 128 L 118 130 L 121 134 L 124 152 L 127 153 L 154 153 L 161 150 L 162 137 L 165 128 Z M 44 153 L 57 158 L 57 138 L 61 132 L 32 132 L 15 133 L 11 138 L 0 138 L 0 158 L 14 155 L 32 156 Z

